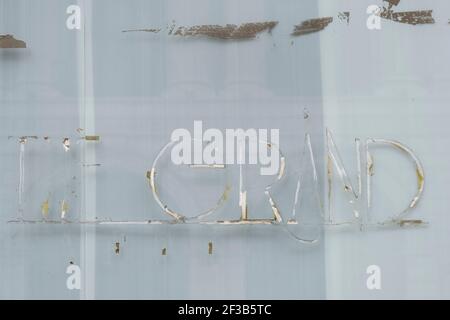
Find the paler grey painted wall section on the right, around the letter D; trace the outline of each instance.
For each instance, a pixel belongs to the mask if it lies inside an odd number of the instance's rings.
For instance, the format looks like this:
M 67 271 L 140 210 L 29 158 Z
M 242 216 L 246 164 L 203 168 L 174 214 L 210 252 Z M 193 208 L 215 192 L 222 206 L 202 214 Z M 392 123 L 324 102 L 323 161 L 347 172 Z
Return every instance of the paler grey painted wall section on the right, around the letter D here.
M 448 1 L 400 1 L 396 11 L 432 9 L 435 24 L 382 20 L 368 30 L 366 9 L 377 1 L 321 1 L 320 15 L 351 11 L 348 27 L 320 34 L 325 126 L 333 131 L 350 176 L 354 139 L 389 138 L 414 150 L 425 169 L 425 192 L 411 219 L 426 228 L 359 232 L 327 230 L 327 298 L 449 298 L 446 160 L 450 32 Z M 414 166 L 390 148 L 373 151 L 373 218 L 399 213 L 416 187 Z M 356 181 L 353 179 L 353 181 Z M 336 211 L 344 210 L 336 207 Z M 381 270 L 381 290 L 368 290 L 366 269 Z

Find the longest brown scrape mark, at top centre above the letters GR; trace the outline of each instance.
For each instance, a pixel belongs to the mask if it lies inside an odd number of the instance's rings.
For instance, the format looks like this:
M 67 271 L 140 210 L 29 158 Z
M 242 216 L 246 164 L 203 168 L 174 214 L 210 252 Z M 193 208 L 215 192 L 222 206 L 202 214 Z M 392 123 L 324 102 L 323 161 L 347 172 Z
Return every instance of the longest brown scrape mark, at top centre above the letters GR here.
M 278 21 L 249 22 L 237 26 L 235 24 L 199 25 L 192 27 L 178 27 L 173 35 L 182 37 L 208 37 L 221 40 L 254 39 L 259 33 L 271 32 Z M 171 30 L 172 31 L 172 30 Z M 169 35 L 172 32 L 169 31 Z

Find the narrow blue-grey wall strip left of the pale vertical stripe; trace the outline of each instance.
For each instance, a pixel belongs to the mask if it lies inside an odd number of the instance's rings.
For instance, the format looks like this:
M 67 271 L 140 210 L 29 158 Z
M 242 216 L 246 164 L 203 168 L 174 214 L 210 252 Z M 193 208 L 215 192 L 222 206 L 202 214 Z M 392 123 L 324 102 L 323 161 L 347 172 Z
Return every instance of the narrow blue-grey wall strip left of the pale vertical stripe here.
M 80 297 L 66 288 L 67 266 L 80 261 L 80 228 L 7 223 L 18 214 L 19 187 L 18 140 L 8 136 L 62 137 L 79 127 L 76 35 L 67 33 L 64 17 L 69 3 L 0 2 L 0 33 L 13 34 L 28 45 L 0 50 L 0 297 L 4 299 Z M 34 193 L 39 202 L 25 199 L 29 204 L 25 215 L 31 216 L 39 214 L 48 192 L 54 192 L 54 201 L 61 199 L 65 171 L 59 143 L 56 148 L 46 145 L 49 149 L 44 152 L 33 141 L 28 146 L 25 190 L 42 192 Z

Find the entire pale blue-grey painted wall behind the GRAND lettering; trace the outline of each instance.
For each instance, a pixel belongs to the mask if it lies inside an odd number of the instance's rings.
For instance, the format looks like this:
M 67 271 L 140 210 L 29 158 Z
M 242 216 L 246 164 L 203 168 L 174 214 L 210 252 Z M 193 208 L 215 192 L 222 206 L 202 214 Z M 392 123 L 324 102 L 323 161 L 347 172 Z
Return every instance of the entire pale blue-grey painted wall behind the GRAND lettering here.
M 70 5 L 80 7 L 80 30 L 66 26 Z M 0 49 L 0 298 L 449 298 L 450 4 L 400 1 L 396 11 L 433 10 L 435 22 L 381 19 L 379 30 L 367 27 L 371 5 L 386 2 L 0 0 L 0 34 L 27 43 Z M 318 17 L 333 21 L 291 35 L 294 25 Z M 250 40 L 168 34 L 172 25 L 264 21 L 278 24 Z M 122 32 L 141 28 L 161 30 Z M 167 219 L 146 173 L 171 133 L 193 131 L 196 120 L 204 129 L 280 129 L 287 176 L 272 191 L 286 220 L 293 207 L 302 219 L 320 216 L 312 170 L 301 170 L 307 132 L 320 197 L 339 219 L 352 208 L 336 177 L 327 198 L 325 128 L 354 185 L 355 138 L 400 141 L 425 169 L 425 192 L 408 219 L 428 224 L 325 226 L 314 229 L 318 244 L 304 245 L 282 226 L 8 223 L 40 219 L 45 201 L 49 218 L 59 219 L 62 200 L 71 221 Z M 87 143 L 84 134 L 100 142 Z M 19 137 L 34 135 L 41 138 L 27 139 L 21 170 Z M 417 177 L 395 149 L 372 154 L 372 208 L 361 213 L 376 222 L 408 206 Z M 198 171 L 167 155 L 161 165 L 158 189 L 171 208 L 193 215 L 229 184 L 211 219 L 239 218 L 238 166 Z M 270 218 L 264 187 L 273 177 L 258 169 L 244 166 L 249 214 Z M 305 193 L 294 206 L 299 172 Z M 364 166 L 363 173 L 364 202 Z M 72 264 L 80 267 L 80 290 L 67 287 Z M 379 290 L 367 287 L 371 266 L 380 271 Z

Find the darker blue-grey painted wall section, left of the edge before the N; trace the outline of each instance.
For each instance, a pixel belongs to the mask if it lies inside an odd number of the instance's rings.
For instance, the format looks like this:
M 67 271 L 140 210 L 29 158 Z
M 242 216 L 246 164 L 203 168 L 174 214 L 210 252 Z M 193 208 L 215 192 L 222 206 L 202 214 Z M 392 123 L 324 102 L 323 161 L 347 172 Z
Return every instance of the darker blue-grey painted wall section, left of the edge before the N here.
M 58 219 L 62 199 L 69 200 L 73 220 L 167 218 L 152 198 L 146 172 L 172 131 L 192 130 L 195 120 L 218 129 L 280 129 L 288 175 L 273 192 L 288 217 L 307 125 L 323 167 L 319 36 L 289 36 L 294 24 L 318 15 L 315 1 L 0 4 L 0 33 L 27 42 L 27 49 L 0 51 L 1 298 L 326 297 L 323 241 L 301 245 L 279 226 L 7 223 L 20 209 L 18 137 L 23 135 L 51 137 L 47 144 L 28 139 L 25 146 L 25 218 L 39 219 L 48 199 L 52 219 Z M 80 30 L 66 27 L 71 4 L 82 9 Z M 122 32 L 166 30 L 172 21 L 267 20 L 279 21 L 277 28 L 253 40 Z M 77 128 L 101 141 L 76 143 Z M 62 145 L 68 136 L 70 153 Z M 228 181 L 228 201 L 214 218 L 239 218 L 237 166 L 225 175 L 205 174 L 180 171 L 165 160 L 161 194 L 174 208 L 189 214 L 208 207 Z M 270 179 L 252 166 L 245 170 L 249 214 L 271 217 L 263 193 Z M 316 212 L 307 200 L 302 210 Z M 80 266 L 80 290 L 66 286 L 70 263 Z

